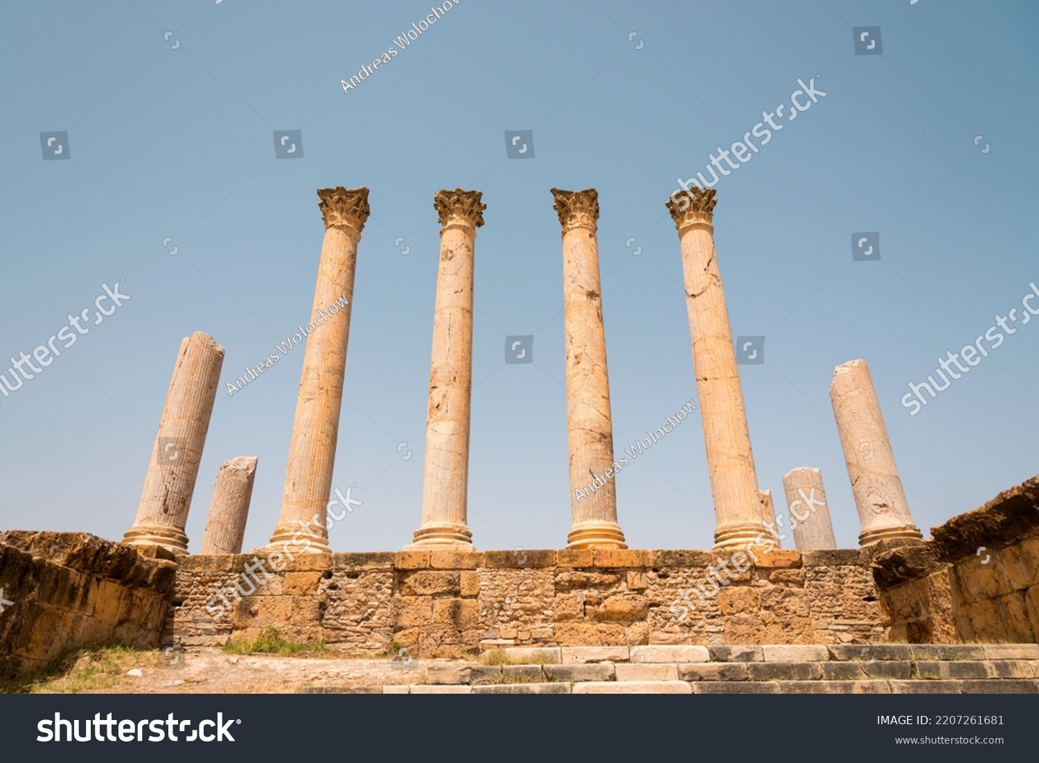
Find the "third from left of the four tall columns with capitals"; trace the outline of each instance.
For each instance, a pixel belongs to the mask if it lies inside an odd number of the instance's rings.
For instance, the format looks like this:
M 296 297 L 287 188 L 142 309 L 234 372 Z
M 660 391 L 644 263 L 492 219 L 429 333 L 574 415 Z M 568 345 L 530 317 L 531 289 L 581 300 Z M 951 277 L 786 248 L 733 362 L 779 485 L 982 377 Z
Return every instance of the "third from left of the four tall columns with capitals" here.
M 598 281 L 598 193 L 552 189 L 563 236 L 566 426 L 570 455 L 570 549 L 627 549 L 617 524 L 613 421 Z M 597 490 L 586 485 L 602 483 Z M 590 495 L 587 495 L 590 493 Z

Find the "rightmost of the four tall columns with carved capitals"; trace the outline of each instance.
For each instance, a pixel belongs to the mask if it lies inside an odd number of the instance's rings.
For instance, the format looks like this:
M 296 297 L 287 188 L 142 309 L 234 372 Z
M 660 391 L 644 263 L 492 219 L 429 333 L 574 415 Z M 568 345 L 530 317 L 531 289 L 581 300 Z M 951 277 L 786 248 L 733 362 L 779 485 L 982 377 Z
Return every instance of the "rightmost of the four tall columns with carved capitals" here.
M 760 532 L 764 507 L 750 449 L 728 308 L 714 247 L 715 191 L 693 186 L 667 208 L 678 229 L 693 365 L 714 497 L 715 548 L 744 548 Z

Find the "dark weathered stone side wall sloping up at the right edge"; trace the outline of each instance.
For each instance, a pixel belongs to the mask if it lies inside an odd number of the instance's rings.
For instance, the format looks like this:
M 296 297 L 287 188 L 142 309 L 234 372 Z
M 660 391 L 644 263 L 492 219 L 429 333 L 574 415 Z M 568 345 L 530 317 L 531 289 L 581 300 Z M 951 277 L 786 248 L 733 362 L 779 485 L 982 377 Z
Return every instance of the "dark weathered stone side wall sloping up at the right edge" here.
M 1039 641 L 1039 476 L 873 561 L 890 640 Z

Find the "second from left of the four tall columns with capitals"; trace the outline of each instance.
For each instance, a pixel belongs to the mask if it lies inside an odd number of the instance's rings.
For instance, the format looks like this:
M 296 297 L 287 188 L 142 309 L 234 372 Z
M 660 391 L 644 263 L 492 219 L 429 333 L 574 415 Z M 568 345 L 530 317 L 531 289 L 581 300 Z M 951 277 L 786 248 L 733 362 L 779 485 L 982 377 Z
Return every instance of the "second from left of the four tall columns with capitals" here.
M 480 191 L 439 190 L 441 266 L 426 417 L 422 525 L 411 549 L 473 550 L 467 525 L 469 425 L 473 391 L 473 246 L 483 225 Z

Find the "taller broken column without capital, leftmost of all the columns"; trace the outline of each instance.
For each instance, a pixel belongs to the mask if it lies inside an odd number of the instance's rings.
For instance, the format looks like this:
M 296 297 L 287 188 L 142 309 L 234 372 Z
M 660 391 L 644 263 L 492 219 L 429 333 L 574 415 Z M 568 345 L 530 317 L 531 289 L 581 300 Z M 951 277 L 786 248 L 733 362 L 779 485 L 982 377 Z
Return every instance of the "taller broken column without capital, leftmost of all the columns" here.
M 181 342 L 137 519 L 123 543 L 162 546 L 175 554 L 188 552 L 184 527 L 222 365 L 223 347 L 208 334 L 195 332 Z

